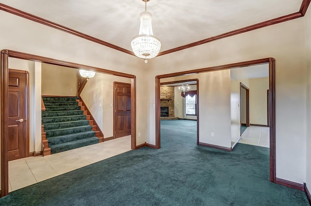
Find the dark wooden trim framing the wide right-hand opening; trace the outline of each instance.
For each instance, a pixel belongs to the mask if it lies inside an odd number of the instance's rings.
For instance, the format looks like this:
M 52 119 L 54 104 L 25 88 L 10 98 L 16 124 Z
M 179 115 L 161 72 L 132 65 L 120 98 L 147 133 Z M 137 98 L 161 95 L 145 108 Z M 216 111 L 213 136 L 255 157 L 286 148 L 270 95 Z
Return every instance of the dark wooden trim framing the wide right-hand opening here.
M 158 75 L 155 77 L 155 148 L 160 148 L 160 79 L 189 74 L 219 71 L 255 64 L 269 63 L 269 119 L 270 119 L 270 181 L 276 182 L 276 67 L 274 58 L 251 60 L 240 63 L 230 63 L 201 69 Z M 198 131 L 199 132 L 199 131 Z

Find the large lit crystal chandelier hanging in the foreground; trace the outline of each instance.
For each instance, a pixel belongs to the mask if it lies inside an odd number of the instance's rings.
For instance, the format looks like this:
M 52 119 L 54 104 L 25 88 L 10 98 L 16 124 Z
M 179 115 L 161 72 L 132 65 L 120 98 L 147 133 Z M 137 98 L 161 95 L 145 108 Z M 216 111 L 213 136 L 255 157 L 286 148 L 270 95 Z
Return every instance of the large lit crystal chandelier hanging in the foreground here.
M 152 17 L 151 13 L 147 12 L 147 1 L 145 2 L 145 11 L 140 14 L 140 28 L 139 34 L 134 36 L 131 42 L 134 54 L 148 62 L 147 59 L 154 58 L 160 51 L 161 42 L 154 36 L 152 31 Z

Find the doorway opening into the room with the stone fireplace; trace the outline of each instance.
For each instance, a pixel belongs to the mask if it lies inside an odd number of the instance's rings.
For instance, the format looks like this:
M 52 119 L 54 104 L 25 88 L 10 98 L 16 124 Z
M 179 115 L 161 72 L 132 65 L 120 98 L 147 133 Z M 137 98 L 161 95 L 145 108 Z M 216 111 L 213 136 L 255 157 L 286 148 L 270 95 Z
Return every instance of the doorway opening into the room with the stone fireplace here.
M 159 115 L 163 146 L 198 144 L 199 80 L 162 81 Z

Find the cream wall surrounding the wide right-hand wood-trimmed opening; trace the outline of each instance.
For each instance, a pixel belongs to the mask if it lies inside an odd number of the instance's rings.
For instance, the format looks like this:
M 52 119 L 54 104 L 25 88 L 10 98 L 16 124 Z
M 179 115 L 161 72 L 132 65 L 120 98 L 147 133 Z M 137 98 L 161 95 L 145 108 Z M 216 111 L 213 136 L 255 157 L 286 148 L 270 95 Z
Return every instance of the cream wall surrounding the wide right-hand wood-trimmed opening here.
M 310 13 L 309 9 L 306 15 L 310 16 Z M 310 59 L 305 55 L 303 31 L 304 22 L 308 19 L 310 17 L 297 18 L 156 57 L 149 61 L 152 68 L 148 75 L 148 104 L 155 102 L 154 78 L 157 75 L 267 57 L 275 58 L 276 177 L 303 183 L 306 180 L 306 150 L 302 149 L 306 144 L 306 62 Z M 211 86 L 214 85 L 213 78 L 208 81 Z M 201 88 L 200 86 L 200 90 Z M 208 124 L 207 120 L 201 121 L 201 117 L 205 115 L 201 114 L 204 107 L 205 105 L 200 105 L 200 126 Z M 154 143 L 155 109 L 149 107 L 147 115 L 147 142 Z

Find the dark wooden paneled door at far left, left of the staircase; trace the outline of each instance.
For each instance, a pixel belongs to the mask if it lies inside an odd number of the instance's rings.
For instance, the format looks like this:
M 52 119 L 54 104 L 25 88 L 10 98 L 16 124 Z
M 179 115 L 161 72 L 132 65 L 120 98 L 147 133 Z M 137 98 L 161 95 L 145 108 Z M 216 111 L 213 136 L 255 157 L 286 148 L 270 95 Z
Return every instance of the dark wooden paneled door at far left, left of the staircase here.
M 25 86 L 26 73 L 9 71 L 8 160 L 25 157 Z

